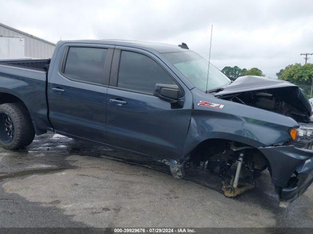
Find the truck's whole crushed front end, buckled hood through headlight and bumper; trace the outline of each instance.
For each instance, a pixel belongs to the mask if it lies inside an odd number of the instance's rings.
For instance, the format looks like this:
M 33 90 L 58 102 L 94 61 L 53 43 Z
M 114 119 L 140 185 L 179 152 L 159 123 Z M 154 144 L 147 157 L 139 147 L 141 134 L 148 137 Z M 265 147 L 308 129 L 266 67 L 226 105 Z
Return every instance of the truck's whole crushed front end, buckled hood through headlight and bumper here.
M 312 108 L 303 91 L 283 80 L 246 76 L 237 78 L 215 96 L 291 117 L 298 122 L 297 128 L 290 129 L 290 139 L 258 149 L 268 160 L 281 205 L 303 194 L 313 181 Z

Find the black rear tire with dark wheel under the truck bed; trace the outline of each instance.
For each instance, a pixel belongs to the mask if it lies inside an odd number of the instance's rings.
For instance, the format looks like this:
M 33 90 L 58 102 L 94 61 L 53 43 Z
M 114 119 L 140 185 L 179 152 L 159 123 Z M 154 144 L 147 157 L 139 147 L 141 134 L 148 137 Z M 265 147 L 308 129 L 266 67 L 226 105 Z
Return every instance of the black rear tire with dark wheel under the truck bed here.
M 29 145 L 35 130 L 29 113 L 22 103 L 0 105 L 0 146 L 17 150 Z

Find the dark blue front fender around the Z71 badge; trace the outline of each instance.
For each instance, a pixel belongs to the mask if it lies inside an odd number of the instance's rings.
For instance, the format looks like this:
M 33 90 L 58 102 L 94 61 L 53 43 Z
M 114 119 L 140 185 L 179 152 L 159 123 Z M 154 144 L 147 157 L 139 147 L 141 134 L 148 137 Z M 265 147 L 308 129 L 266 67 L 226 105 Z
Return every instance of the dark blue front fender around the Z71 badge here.
M 184 155 L 190 153 L 202 141 L 213 138 L 234 140 L 255 148 L 266 147 L 289 139 L 290 129 L 298 126 L 291 117 L 199 92 L 193 93 L 194 110 Z M 200 101 L 224 106 L 221 109 L 210 108 L 198 105 Z

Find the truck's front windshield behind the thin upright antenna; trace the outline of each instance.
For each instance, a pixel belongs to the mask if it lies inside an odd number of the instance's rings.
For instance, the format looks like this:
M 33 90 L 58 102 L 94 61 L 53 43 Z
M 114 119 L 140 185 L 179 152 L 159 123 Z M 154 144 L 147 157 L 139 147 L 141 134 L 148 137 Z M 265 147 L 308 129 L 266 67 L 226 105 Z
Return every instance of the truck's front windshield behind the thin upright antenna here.
M 201 91 L 205 92 L 206 90 L 225 87 L 231 82 L 229 78 L 210 63 L 206 88 L 209 62 L 194 51 L 170 52 L 162 55 Z

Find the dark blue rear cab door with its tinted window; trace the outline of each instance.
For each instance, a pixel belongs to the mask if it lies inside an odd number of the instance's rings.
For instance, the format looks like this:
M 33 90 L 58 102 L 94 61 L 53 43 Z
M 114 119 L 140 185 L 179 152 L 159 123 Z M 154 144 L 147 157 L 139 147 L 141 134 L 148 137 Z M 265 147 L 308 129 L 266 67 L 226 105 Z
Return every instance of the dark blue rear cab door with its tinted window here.
M 106 96 L 114 46 L 69 44 L 48 80 L 50 121 L 57 132 L 106 142 Z M 60 50 L 61 51 L 61 50 Z

